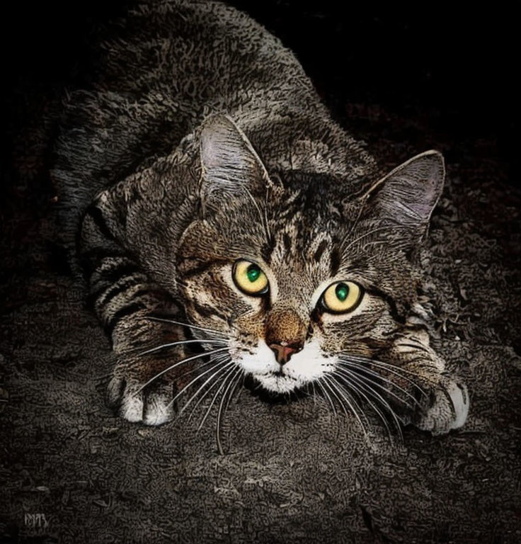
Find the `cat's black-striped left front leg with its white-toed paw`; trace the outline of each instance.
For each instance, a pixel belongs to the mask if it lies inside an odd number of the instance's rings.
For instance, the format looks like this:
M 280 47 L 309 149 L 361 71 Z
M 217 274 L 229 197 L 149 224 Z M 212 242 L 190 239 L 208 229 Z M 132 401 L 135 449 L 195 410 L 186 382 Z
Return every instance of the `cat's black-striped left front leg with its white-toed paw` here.
M 88 208 L 79 244 L 91 305 L 118 355 L 108 385 L 108 402 L 128 421 L 159 425 L 173 416 L 171 401 L 180 373 L 170 371 L 144 385 L 169 365 L 182 361 L 186 353 L 183 344 L 142 353 L 162 344 L 183 342 L 185 336 L 182 327 L 147 318 L 157 312 L 171 314 L 177 308 L 118 244 L 109 213 L 99 202 Z M 186 365 L 180 368 L 188 370 Z

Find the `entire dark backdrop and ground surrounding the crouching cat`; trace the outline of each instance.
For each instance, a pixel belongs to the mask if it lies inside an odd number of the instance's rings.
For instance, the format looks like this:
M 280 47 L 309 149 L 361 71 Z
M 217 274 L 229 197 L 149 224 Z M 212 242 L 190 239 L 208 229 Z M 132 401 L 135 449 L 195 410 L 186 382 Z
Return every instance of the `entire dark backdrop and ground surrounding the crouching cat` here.
M 442 355 L 468 378 L 471 417 L 443 438 L 409 429 L 406 452 L 394 455 L 386 443 L 360 454 L 338 441 L 324 412 L 309 420 L 307 434 L 299 403 L 269 412 L 245 401 L 246 412 L 229 417 L 238 455 L 219 460 L 210 428 L 195 439 L 190 426 L 147 430 L 116 420 L 102 402 L 110 350 L 84 310 L 84 290 L 66 275 L 47 168 L 64 89 L 81 86 L 92 29 L 122 3 L 11 2 L 0 18 L 0 414 L 8 415 L 0 420 L 0 543 L 124 542 L 136 528 L 150 528 L 142 541 L 152 542 L 156 525 L 182 534 L 191 523 L 193 541 L 202 542 L 198 535 L 222 525 L 207 519 L 217 512 L 244 519 L 246 542 L 353 535 L 517 544 L 521 195 L 508 186 L 517 185 L 519 169 L 517 18 L 490 6 L 426 12 L 422 4 L 375 15 L 353 3 L 231 3 L 294 50 L 333 115 L 384 166 L 430 147 L 445 155 L 447 183 L 424 268 L 435 280 Z M 144 470 L 139 461 L 156 443 Z M 167 466 L 181 495 L 164 477 Z M 273 484 L 260 489 L 245 475 Z M 244 508 L 214 494 L 224 481 L 239 489 Z M 288 500 L 302 500 L 296 517 L 282 509 Z M 22 509 L 49 514 L 57 537 L 28 531 Z M 34 538 L 13 540 L 18 532 Z

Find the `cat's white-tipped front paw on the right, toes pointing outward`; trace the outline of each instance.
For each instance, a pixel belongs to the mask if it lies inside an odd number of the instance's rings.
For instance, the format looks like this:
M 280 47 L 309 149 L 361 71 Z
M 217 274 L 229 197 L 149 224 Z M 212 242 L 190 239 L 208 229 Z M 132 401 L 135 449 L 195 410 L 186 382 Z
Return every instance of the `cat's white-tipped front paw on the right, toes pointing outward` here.
M 433 434 L 445 434 L 463 426 L 469 414 L 466 385 L 449 380 L 423 400 L 411 423 Z

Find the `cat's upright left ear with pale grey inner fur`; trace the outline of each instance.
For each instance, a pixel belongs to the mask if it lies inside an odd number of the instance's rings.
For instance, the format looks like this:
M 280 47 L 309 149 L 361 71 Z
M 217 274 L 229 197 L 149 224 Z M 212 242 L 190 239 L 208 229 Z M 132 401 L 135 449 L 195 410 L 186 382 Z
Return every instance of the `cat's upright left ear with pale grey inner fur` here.
M 242 193 L 265 196 L 271 181 L 253 145 L 227 115 L 214 115 L 200 133 L 203 208 L 219 208 Z

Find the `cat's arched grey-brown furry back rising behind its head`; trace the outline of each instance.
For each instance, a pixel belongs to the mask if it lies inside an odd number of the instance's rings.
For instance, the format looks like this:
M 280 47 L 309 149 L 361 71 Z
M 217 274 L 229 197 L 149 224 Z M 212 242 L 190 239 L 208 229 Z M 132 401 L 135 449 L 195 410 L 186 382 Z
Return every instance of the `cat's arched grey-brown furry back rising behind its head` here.
M 234 118 L 268 168 L 309 169 L 309 157 L 312 169 L 372 166 L 292 52 L 231 6 L 138 3 L 98 29 L 92 50 L 91 82 L 69 92 L 53 170 L 66 239 L 99 191 L 171 154 L 211 113 Z

